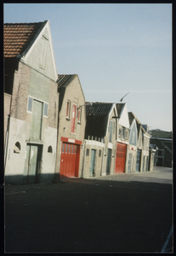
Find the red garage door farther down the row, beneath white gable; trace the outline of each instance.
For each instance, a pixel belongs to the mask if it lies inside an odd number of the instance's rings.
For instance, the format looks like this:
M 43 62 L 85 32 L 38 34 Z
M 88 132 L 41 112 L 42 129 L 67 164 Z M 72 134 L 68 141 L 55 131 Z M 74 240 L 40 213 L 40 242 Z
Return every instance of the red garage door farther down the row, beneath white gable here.
M 116 168 L 115 173 L 125 172 L 126 144 L 116 144 Z

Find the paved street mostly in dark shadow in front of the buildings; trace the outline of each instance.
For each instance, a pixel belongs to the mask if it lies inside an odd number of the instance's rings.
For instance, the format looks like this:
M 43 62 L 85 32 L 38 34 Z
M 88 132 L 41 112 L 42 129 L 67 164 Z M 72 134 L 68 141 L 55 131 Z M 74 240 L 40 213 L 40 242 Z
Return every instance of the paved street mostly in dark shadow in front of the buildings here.
M 6 185 L 5 252 L 173 252 L 172 178 L 171 168 L 156 167 Z

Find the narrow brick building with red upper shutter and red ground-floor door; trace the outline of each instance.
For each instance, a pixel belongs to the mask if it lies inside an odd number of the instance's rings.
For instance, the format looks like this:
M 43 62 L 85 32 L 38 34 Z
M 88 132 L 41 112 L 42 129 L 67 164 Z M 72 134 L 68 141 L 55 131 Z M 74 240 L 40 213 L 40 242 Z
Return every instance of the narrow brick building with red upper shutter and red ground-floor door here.
M 86 125 L 85 98 L 78 75 L 58 75 L 57 83 L 60 104 L 55 181 L 82 175 Z

